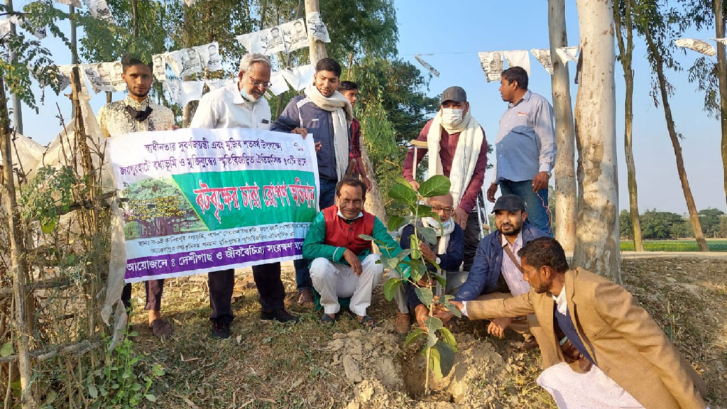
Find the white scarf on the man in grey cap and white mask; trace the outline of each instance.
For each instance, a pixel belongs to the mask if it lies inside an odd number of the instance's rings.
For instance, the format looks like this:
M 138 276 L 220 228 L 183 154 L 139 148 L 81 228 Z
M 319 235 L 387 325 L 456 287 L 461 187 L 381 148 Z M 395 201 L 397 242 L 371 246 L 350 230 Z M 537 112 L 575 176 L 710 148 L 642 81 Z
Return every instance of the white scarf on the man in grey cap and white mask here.
M 442 124 L 440 110 L 437 116 L 434 117 L 432 125 L 429 127 L 429 132 L 427 133 L 430 177 L 444 174 L 442 170 L 442 159 L 439 156 L 439 140 L 442 137 L 442 129 L 446 130 L 449 135 L 459 132 L 457 149 L 454 151 L 452 167 L 449 170 L 449 180 L 451 181 L 449 191 L 454 199 L 454 207 L 459 207 L 459 202 L 462 201 L 462 196 L 465 195 L 467 186 L 470 185 L 472 175 L 475 173 L 475 166 L 477 165 L 477 159 L 480 157 L 480 150 L 482 148 L 482 142 L 485 139 L 485 134 L 482 132 L 482 128 L 477 122 L 477 119 L 470 116 L 469 110 L 467 110 L 465 117 L 462 118 L 462 122 L 459 122 L 454 127 Z

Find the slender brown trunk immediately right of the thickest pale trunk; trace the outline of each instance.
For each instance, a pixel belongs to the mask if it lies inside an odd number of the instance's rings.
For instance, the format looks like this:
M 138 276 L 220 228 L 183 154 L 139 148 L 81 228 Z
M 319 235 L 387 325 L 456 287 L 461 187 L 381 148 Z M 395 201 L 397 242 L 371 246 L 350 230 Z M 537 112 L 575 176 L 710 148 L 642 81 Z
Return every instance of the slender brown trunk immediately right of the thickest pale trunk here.
M 619 11 L 619 4 L 624 4 L 624 15 Z M 623 18 L 623 21 L 622 21 Z M 622 25 L 623 23 L 623 25 Z M 633 55 L 633 20 L 631 15 L 631 0 L 614 1 L 614 24 L 616 25 L 616 39 L 619 44 L 619 60 L 624 68 L 624 83 L 626 84 L 626 96 L 624 97 L 624 154 L 626 155 L 626 173 L 629 187 L 629 216 L 631 218 L 632 234 L 634 238 L 634 250 L 643 251 L 643 239 L 641 239 L 641 221 L 638 212 L 638 188 L 636 186 L 636 166 L 632 149 L 632 124 L 633 124 L 633 95 L 634 95 L 634 74 L 631 68 Z M 626 41 L 622 28 L 625 30 Z

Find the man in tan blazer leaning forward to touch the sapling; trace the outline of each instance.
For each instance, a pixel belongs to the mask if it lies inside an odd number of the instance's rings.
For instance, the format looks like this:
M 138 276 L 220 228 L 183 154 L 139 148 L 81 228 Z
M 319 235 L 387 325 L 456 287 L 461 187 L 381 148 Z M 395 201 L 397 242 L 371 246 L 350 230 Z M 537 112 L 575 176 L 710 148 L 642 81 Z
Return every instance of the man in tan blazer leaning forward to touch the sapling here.
M 541 349 L 569 362 L 560 346 L 571 341 L 582 362 L 595 365 L 644 408 L 706 407 L 702 378 L 624 287 L 583 269 L 569 269 L 563 247 L 550 237 L 534 239 L 518 255 L 529 293 L 455 302 L 462 314 L 493 319 L 534 313 L 547 335 Z M 568 339 L 557 337 L 556 328 Z M 583 372 L 577 361 L 570 365 Z

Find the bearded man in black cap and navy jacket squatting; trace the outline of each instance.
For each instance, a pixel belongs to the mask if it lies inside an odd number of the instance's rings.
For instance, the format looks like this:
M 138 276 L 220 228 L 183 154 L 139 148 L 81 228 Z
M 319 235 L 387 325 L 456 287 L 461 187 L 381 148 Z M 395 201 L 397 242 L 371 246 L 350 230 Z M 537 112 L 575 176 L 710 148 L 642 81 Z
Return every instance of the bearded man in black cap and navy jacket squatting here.
M 467 281 L 459 289 L 455 301 L 505 299 L 527 293 L 530 285 L 523 279 L 518 250 L 538 237 L 547 236 L 527 221 L 525 202 L 515 194 L 499 196 L 492 213 L 495 214 L 497 231 L 487 235 L 477 249 L 475 261 L 467 275 Z M 449 311 L 438 312 L 444 322 L 451 319 Z M 543 333 L 535 315 L 519 318 L 493 319 L 487 332 L 498 337 L 505 334 L 505 328 L 523 334 L 525 348 L 534 348 Z M 543 361 L 551 358 L 549 351 L 542 350 Z M 545 365 L 545 368 L 550 365 Z

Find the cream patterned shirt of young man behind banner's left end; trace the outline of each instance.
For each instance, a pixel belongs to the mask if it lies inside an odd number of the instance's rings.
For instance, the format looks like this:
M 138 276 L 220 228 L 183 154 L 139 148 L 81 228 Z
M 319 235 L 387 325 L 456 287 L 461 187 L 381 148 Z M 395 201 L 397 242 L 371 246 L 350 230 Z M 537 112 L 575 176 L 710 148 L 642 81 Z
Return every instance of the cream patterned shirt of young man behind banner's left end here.
M 127 106 L 137 111 L 145 111 L 150 107 L 152 111 L 147 119 L 137 121 L 126 111 Z M 174 113 L 166 106 L 152 103 L 148 97 L 139 102 L 131 95 L 126 95 L 123 100 L 101 107 L 98 111 L 98 124 L 105 138 L 132 132 L 171 130 L 174 127 Z

